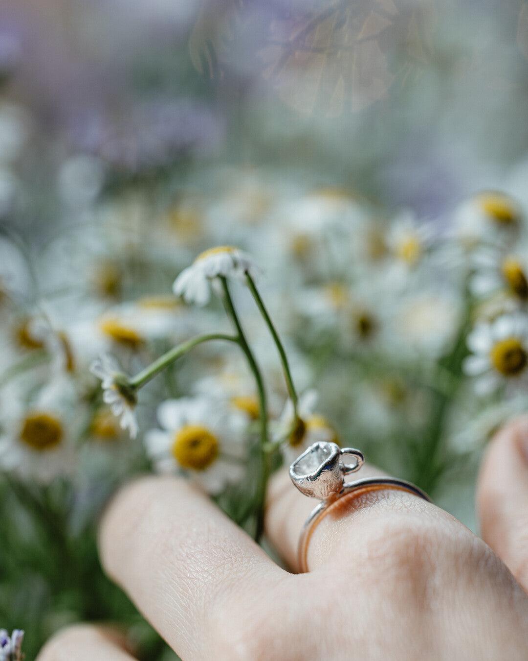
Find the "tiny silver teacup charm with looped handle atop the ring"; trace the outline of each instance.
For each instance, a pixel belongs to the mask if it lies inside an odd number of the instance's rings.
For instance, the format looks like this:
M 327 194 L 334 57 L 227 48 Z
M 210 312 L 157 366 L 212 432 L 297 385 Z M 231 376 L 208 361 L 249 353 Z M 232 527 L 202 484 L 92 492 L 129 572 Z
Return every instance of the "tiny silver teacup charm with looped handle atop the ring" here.
M 346 464 L 343 457 L 350 455 L 355 462 Z M 341 449 L 335 443 L 314 443 L 292 463 L 290 478 L 305 496 L 327 500 L 338 494 L 344 485 L 344 477 L 358 471 L 365 458 L 352 447 Z

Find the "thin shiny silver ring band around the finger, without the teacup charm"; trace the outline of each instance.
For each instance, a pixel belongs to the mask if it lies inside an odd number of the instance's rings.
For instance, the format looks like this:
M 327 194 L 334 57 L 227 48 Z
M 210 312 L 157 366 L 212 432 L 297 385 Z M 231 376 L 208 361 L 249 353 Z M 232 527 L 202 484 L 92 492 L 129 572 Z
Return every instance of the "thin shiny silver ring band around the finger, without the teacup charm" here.
M 428 502 L 431 502 L 429 496 L 422 491 L 418 486 L 406 482 L 405 480 L 399 480 L 393 477 L 366 477 L 362 480 L 352 482 L 343 487 L 343 489 L 334 496 L 334 498 L 321 501 L 317 507 L 312 510 L 310 516 L 306 520 L 306 523 L 302 527 L 302 531 L 299 537 L 299 547 L 298 547 L 298 566 L 300 572 L 304 574 L 308 571 L 308 545 L 310 544 L 310 539 L 314 534 L 315 527 L 321 523 L 323 518 L 330 513 L 333 509 L 333 506 L 349 494 L 355 493 L 356 496 L 368 493 L 370 491 L 378 491 L 382 489 L 394 489 L 398 491 L 405 491 L 407 493 L 414 494 L 415 496 L 420 496 Z

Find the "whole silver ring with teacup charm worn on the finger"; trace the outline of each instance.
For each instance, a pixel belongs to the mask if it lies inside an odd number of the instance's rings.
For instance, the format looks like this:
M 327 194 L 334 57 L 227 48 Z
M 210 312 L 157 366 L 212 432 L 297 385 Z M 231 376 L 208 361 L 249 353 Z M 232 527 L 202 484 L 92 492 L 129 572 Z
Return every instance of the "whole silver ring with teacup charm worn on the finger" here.
M 354 457 L 354 463 L 345 463 L 343 457 Z M 341 448 L 335 443 L 318 442 L 308 447 L 290 466 L 290 478 L 298 490 L 305 496 L 321 500 L 306 520 L 299 538 L 298 558 L 301 572 L 308 571 L 306 555 L 315 526 L 342 496 L 360 489 L 370 491 L 393 488 L 431 502 L 426 492 L 418 486 L 396 477 L 365 477 L 345 483 L 345 475 L 358 471 L 364 461 L 363 453 L 353 447 Z

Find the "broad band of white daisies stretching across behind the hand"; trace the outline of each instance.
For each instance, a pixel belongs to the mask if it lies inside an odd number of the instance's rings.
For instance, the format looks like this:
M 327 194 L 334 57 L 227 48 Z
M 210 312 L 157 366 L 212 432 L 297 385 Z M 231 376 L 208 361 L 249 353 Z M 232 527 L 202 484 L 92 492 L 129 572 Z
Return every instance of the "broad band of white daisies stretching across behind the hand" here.
M 200 185 L 154 221 L 141 196 L 92 202 L 38 254 L 1 238 L 5 475 L 75 483 L 149 461 L 221 494 L 317 440 L 423 438 L 453 383 L 471 384 L 452 397 L 459 427 L 522 408 L 516 198 L 482 192 L 426 223 L 267 173 Z

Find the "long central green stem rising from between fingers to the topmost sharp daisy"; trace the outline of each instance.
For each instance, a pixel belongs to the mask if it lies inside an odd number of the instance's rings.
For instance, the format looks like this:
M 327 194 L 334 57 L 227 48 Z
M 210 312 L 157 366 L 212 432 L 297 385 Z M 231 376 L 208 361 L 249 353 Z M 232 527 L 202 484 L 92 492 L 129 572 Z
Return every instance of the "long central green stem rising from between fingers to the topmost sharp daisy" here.
M 259 484 L 257 485 L 257 499 L 258 499 L 257 502 L 259 504 L 259 509 L 257 513 L 257 525 L 255 529 L 255 540 L 259 541 L 264 530 L 264 506 L 266 500 L 266 488 L 267 488 L 269 474 L 271 472 L 268 453 L 265 450 L 265 448 L 268 445 L 266 390 L 264 387 L 264 381 L 262 378 L 260 368 L 257 365 L 257 361 L 255 360 L 255 356 L 253 356 L 253 352 L 251 351 L 251 348 L 249 348 L 248 340 L 246 339 L 246 334 L 244 333 L 244 329 L 242 329 L 242 324 L 240 323 L 240 319 L 238 319 L 238 314 L 234 307 L 233 299 L 229 291 L 227 280 L 226 278 L 220 278 L 220 282 L 222 282 L 222 288 L 224 290 L 224 306 L 226 308 L 226 312 L 231 317 L 232 322 L 234 323 L 234 327 L 236 329 L 238 336 L 237 337 L 238 342 L 240 344 L 240 347 L 242 348 L 242 351 L 244 351 L 244 354 L 246 354 L 246 359 L 248 360 L 249 368 L 251 369 L 253 375 L 255 376 L 255 381 L 257 383 L 257 391 L 259 395 L 259 417 L 261 424 L 261 447 L 260 447 L 261 474 L 259 476 L 260 478 Z

